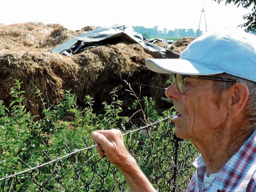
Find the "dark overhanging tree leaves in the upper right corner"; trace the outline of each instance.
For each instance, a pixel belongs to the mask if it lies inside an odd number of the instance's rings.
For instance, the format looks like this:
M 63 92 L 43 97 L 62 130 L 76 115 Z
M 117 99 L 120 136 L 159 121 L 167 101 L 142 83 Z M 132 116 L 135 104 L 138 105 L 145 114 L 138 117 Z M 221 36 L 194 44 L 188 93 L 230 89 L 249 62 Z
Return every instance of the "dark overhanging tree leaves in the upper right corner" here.
M 220 4 L 224 0 L 214 0 Z M 245 27 L 245 31 L 256 31 L 256 1 L 255 0 L 225 0 L 225 5 L 234 3 L 237 7 L 249 8 L 251 6 L 251 13 L 248 13 L 242 18 L 246 21 L 244 24 L 238 25 L 238 27 Z

